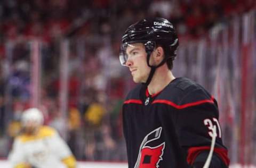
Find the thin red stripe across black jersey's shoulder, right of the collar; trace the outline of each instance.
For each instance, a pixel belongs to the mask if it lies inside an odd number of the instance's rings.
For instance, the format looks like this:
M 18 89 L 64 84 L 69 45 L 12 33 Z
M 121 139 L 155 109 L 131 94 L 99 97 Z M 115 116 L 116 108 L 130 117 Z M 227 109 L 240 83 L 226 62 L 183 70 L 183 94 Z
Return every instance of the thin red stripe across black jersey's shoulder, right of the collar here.
M 198 102 L 187 103 L 187 104 L 182 104 L 182 105 L 175 104 L 169 100 L 154 100 L 154 102 L 152 104 L 154 104 L 154 103 L 163 103 L 163 104 L 171 105 L 175 108 L 181 109 L 181 108 L 196 106 L 196 105 L 203 104 L 203 103 L 212 103 L 213 104 L 214 102 L 213 102 L 213 97 L 211 97 L 211 99 L 200 100 Z

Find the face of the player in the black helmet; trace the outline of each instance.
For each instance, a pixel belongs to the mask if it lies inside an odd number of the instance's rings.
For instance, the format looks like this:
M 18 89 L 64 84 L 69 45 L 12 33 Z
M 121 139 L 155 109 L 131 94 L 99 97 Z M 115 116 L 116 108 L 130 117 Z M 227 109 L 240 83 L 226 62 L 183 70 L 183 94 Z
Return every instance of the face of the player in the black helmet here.
M 147 53 L 142 43 L 129 44 L 126 49 L 128 56 L 125 63 L 129 67 L 135 83 L 146 82 L 150 72 L 147 65 Z

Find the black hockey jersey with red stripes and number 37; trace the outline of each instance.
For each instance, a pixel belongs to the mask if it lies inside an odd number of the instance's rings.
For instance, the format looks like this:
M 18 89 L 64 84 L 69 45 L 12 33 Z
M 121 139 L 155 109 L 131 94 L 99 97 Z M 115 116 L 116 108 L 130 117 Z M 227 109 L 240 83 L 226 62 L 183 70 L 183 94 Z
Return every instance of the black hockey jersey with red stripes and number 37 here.
M 215 99 L 187 78 L 174 79 L 155 95 L 138 85 L 123 104 L 129 168 L 190 167 L 199 153 L 210 150 L 213 125 L 214 153 L 228 165 L 218 117 Z

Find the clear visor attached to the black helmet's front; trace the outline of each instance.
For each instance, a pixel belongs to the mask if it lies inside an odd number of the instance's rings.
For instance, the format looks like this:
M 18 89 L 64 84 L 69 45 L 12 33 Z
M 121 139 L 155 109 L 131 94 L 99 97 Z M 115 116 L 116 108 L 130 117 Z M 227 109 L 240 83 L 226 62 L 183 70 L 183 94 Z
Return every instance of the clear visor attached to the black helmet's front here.
M 142 43 L 145 46 L 146 52 L 152 52 L 153 49 L 155 48 L 155 42 L 153 41 L 136 41 L 135 43 Z M 128 46 L 133 47 L 133 43 L 123 43 L 120 47 L 120 52 L 119 52 L 119 61 L 121 65 L 126 66 L 126 61 L 128 60 L 128 55 L 126 53 L 126 49 Z

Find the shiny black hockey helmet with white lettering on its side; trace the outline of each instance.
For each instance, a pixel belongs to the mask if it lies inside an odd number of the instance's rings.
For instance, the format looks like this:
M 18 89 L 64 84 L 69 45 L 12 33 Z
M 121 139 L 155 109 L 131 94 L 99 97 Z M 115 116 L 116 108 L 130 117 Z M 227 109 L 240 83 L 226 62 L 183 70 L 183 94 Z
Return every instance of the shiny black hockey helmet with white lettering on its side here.
M 165 52 L 163 62 L 155 68 L 163 65 L 167 59 L 174 60 L 177 47 L 179 46 L 177 32 L 172 23 L 164 18 L 143 19 L 132 24 L 122 37 L 122 44 L 119 54 L 119 60 L 122 65 L 127 61 L 126 48 L 128 44 L 142 43 L 145 45 L 147 53 L 147 63 L 149 65 L 149 57 L 156 45 L 161 45 Z

